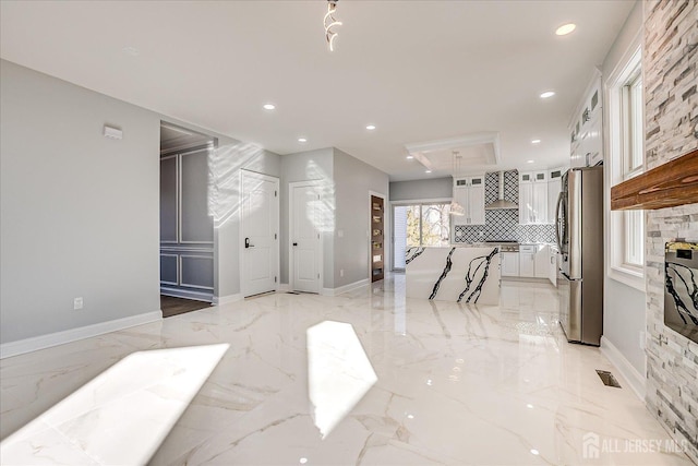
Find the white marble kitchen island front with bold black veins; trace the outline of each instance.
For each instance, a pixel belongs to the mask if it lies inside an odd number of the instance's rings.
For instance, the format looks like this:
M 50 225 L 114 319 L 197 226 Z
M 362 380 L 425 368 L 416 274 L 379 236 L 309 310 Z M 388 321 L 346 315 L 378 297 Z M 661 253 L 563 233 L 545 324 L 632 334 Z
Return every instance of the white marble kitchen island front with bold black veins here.
M 500 303 L 500 248 L 409 248 L 405 259 L 408 298 Z

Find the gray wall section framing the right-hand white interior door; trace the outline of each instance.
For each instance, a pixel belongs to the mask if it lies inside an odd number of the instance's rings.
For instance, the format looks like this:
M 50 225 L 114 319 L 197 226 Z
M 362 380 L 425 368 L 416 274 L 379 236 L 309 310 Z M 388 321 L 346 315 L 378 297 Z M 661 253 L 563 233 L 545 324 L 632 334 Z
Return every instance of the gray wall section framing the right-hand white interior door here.
M 289 282 L 288 222 L 289 183 L 294 181 L 321 180 L 323 182 L 323 204 L 326 206 L 326 225 L 323 231 L 323 287 L 334 288 L 332 274 L 334 264 L 335 182 L 333 180 L 332 147 L 300 152 L 280 157 L 281 171 L 281 283 Z

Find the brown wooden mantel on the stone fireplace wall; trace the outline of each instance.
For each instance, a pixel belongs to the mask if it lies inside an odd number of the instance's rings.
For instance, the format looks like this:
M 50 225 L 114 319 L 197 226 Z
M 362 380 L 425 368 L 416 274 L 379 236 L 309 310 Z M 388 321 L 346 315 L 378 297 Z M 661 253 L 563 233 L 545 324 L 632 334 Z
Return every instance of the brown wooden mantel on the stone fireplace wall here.
M 698 150 L 611 188 L 611 210 L 655 210 L 698 203 Z

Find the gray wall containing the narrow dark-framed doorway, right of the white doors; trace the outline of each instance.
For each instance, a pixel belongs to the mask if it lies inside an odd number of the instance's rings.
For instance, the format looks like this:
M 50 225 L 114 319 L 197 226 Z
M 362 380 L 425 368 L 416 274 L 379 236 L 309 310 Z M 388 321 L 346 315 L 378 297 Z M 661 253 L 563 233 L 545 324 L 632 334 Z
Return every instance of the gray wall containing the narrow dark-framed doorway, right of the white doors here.
M 337 148 L 334 150 L 335 196 L 335 263 L 334 287 L 349 285 L 370 277 L 370 201 L 369 191 L 383 194 L 385 202 L 384 263 L 388 264 L 389 210 L 388 176 Z M 339 237 L 339 232 L 342 237 Z M 344 277 L 340 271 L 344 270 Z

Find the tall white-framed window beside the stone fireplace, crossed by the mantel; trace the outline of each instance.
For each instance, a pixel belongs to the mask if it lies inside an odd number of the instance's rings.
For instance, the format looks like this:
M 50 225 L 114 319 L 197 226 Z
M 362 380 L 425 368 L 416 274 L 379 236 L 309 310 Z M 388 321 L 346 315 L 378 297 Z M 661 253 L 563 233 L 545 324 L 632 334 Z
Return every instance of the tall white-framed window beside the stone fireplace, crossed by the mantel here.
M 609 188 L 645 170 L 641 55 L 637 47 L 607 81 Z M 609 275 L 645 289 L 645 211 L 609 213 Z

